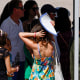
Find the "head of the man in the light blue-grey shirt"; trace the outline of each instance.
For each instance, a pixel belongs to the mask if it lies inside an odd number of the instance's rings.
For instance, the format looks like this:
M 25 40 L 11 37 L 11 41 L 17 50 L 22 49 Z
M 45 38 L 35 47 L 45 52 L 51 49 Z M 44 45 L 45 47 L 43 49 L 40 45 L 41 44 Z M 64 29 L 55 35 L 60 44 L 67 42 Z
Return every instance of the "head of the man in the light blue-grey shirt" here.
M 15 15 L 19 18 L 24 16 L 24 8 L 21 0 L 12 0 L 9 4 L 10 15 Z

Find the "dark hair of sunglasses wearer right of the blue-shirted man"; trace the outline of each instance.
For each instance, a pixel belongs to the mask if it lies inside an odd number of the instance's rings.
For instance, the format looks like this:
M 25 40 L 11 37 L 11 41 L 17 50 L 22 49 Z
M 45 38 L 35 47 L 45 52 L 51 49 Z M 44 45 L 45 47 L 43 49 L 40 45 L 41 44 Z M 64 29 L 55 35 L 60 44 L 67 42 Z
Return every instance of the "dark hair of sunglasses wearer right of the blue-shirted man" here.
M 34 1 L 34 0 L 29 0 L 29 1 L 26 1 L 26 2 L 25 2 L 25 4 L 24 4 L 24 9 L 25 9 L 25 12 L 24 12 L 24 20 L 26 20 L 26 19 L 29 18 L 29 10 L 30 10 L 34 5 L 37 5 L 36 1 Z

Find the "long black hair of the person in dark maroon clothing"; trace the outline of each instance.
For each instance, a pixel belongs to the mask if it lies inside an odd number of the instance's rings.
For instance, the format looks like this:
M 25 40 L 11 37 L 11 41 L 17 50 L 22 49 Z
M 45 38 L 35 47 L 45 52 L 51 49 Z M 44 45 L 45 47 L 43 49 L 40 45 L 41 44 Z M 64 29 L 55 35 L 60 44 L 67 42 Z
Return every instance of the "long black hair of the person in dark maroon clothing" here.
M 58 17 L 55 19 L 55 28 L 57 31 L 71 31 L 71 21 L 69 19 L 69 11 L 64 7 L 57 10 Z

